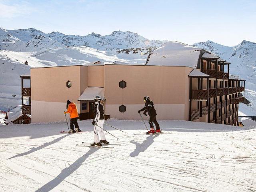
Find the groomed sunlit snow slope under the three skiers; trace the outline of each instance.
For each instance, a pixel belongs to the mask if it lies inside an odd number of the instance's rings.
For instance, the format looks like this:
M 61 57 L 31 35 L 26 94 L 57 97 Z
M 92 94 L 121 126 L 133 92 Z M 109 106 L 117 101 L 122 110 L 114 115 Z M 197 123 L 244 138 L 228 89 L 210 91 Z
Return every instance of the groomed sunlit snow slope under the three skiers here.
M 60 134 L 66 122 L 0 126 L 0 191 L 12 192 L 253 192 L 256 191 L 255 127 L 160 121 L 164 134 L 142 121 L 107 120 L 108 148 L 85 131 Z

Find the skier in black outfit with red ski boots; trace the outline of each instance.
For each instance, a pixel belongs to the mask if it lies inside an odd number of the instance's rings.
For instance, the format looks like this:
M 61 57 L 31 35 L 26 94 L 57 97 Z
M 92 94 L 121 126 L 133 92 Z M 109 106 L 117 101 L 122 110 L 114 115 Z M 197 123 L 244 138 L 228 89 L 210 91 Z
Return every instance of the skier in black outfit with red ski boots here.
M 148 112 L 148 116 L 150 116 L 149 118 L 149 125 L 150 125 L 150 131 L 148 131 L 147 133 L 158 133 L 161 132 L 160 127 L 158 122 L 156 121 L 156 110 L 154 108 L 154 104 L 152 101 L 149 100 L 148 96 L 144 97 L 144 103 L 145 103 L 145 107 L 142 108 L 141 110 L 138 110 L 138 113 L 140 113 L 141 111 L 144 111 L 143 114 L 146 115 L 146 112 Z M 156 130 L 154 130 L 154 125 L 156 126 Z

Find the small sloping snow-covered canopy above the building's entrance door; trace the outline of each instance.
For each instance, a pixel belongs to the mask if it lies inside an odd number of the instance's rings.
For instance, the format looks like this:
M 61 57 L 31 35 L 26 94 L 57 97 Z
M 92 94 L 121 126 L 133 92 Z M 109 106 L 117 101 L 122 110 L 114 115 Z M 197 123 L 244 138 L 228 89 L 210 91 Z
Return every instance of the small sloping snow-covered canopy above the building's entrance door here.
M 87 87 L 82 95 L 78 98 L 78 101 L 93 101 L 95 96 L 101 96 L 102 99 L 104 97 L 104 88 L 102 87 Z

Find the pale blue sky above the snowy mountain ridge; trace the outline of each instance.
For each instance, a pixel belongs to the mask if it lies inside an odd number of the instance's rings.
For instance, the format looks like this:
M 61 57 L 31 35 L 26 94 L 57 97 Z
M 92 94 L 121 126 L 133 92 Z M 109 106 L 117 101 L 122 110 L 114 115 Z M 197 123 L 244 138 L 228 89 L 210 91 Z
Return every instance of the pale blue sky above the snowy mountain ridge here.
M 256 42 L 256 0 L 0 0 L 0 27 L 234 46 Z

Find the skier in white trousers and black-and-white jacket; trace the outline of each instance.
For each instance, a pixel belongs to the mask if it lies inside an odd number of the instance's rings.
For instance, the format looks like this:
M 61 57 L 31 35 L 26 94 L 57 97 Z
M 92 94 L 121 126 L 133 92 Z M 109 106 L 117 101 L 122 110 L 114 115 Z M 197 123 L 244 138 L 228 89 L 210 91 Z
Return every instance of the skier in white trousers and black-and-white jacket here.
M 108 141 L 106 140 L 105 134 L 103 132 L 103 126 L 105 122 L 104 107 L 102 105 L 101 96 L 97 95 L 94 101 L 94 120 L 92 122 L 92 124 L 94 125 L 94 143 L 92 143 L 91 146 L 102 146 L 102 143 L 108 144 Z

